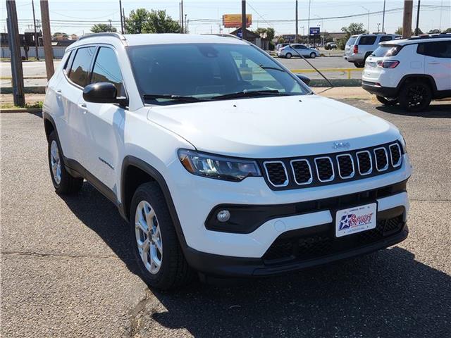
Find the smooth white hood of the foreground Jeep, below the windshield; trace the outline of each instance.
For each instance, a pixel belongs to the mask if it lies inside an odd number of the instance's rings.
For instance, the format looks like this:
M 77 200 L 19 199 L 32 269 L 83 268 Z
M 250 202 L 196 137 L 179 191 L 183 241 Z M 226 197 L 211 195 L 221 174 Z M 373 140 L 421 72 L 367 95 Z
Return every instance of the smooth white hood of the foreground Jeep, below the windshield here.
M 387 121 L 316 95 L 152 106 L 147 118 L 199 151 L 249 158 L 328 154 L 400 137 Z M 334 142 L 350 148 L 334 150 Z

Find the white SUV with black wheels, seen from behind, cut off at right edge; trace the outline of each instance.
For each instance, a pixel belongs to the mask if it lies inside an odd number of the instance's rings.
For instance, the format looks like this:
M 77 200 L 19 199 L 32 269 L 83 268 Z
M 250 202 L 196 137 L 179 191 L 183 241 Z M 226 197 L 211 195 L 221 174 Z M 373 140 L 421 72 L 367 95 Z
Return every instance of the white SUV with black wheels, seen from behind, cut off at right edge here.
M 366 59 L 362 87 L 382 104 L 421 111 L 451 97 L 451 34 L 383 42 Z

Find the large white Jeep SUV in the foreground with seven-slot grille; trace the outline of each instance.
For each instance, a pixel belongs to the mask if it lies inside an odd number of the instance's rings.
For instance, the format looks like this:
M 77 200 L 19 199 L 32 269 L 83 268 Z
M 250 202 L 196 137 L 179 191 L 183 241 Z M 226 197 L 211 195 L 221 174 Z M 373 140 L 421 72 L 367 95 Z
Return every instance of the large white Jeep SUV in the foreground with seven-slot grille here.
M 397 128 L 240 39 L 83 37 L 43 118 L 56 192 L 85 179 L 116 204 L 150 286 L 286 273 L 407 237 Z

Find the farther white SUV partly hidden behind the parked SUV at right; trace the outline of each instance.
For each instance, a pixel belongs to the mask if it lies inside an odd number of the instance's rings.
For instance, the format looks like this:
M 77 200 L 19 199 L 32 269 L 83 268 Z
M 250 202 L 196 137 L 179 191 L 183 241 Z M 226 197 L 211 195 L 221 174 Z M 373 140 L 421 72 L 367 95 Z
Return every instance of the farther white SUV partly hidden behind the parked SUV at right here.
M 399 37 L 400 35 L 396 34 L 352 35 L 346 42 L 343 58 L 354 63 L 357 68 L 364 68 L 366 58 L 378 48 L 380 42 L 391 41 Z

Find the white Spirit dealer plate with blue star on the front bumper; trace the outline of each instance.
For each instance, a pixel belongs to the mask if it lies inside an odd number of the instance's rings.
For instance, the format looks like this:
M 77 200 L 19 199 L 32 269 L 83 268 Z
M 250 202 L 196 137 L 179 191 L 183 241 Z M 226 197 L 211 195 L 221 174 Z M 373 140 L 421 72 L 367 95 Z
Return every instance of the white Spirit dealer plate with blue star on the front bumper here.
M 376 203 L 337 211 L 335 214 L 335 236 L 342 237 L 347 234 L 374 229 L 376 227 L 376 212 Z

